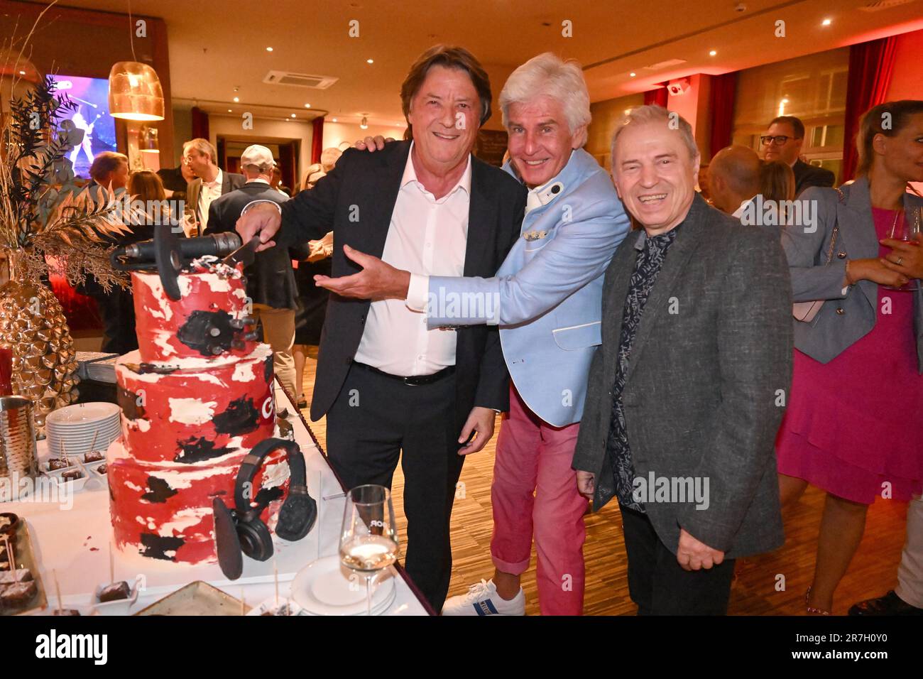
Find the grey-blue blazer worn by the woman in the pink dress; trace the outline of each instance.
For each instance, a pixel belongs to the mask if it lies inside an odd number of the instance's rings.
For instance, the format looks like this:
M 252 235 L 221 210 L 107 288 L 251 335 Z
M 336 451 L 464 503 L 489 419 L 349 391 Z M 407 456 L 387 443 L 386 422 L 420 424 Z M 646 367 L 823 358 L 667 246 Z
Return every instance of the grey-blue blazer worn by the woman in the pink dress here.
M 857 179 L 840 187 L 844 198 L 833 188 L 809 188 L 798 202 L 807 201 L 808 210 L 816 210 L 813 224 L 793 224 L 782 232 L 782 246 L 788 259 L 792 278 L 792 294 L 796 302 L 813 299 L 828 300 L 814 320 L 794 321 L 795 347 L 809 357 L 828 363 L 848 346 L 868 334 L 875 326 L 878 310 L 878 284 L 859 281 L 843 294 L 846 261 L 878 257 L 878 236 L 871 216 L 869 181 Z M 923 199 L 905 194 L 904 207 L 909 218 L 915 218 L 923 207 Z M 833 236 L 833 224 L 839 224 L 839 235 L 828 266 L 827 253 Z M 914 331 L 917 336 L 917 365 L 923 373 L 923 292 L 897 292 L 914 295 Z

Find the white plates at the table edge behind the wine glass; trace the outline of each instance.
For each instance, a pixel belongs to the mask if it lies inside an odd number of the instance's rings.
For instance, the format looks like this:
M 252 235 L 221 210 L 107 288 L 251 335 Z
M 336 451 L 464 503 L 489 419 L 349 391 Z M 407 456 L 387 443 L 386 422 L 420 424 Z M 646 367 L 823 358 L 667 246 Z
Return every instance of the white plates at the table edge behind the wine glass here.
M 393 600 L 393 569 L 379 574 L 372 588 L 372 612 L 378 614 Z M 342 565 L 339 555 L 325 556 L 294 576 L 292 599 L 315 615 L 362 615 L 366 613 L 366 580 Z

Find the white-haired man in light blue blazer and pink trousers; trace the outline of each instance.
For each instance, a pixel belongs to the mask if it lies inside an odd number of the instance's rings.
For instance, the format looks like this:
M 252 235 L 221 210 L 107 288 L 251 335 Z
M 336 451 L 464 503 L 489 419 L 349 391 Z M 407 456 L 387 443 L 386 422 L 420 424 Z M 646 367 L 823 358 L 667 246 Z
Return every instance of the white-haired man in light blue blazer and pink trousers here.
M 605 170 L 581 148 L 590 98 L 579 65 L 538 55 L 510 75 L 499 102 L 509 132 L 504 169 L 530 191 L 521 238 L 496 276 L 424 276 L 346 250 L 363 271 L 317 280 L 346 297 L 405 299 L 421 322 L 426 314 L 430 327 L 447 332 L 500 326 L 512 384 L 491 487 L 496 570 L 447 600 L 442 614 L 523 614 L 520 578 L 534 539 L 542 614 L 574 615 L 583 605 L 586 500 L 570 463 L 600 344 L 603 274 L 629 218 Z

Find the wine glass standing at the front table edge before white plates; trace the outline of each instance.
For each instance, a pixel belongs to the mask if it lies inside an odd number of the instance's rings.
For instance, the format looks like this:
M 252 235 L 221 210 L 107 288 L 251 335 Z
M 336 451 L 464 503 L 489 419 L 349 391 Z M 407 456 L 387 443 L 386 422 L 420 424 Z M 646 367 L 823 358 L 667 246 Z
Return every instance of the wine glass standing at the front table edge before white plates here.
M 384 486 L 357 486 L 346 493 L 340 562 L 366 578 L 366 612 L 372 614 L 372 580 L 398 558 L 391 493 Z

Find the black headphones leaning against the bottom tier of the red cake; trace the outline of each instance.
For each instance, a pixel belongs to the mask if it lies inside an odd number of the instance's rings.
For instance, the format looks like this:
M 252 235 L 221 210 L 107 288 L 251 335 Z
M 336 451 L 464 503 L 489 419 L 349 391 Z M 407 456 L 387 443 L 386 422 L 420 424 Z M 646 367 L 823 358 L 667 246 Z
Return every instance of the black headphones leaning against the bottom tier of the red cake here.
M 305 457 L 298 444 L 283 439 L 266 439 L 258 443 L 246 455 L 237 472 L 234 509 L 229 510 L 221 496 L 216 496 L 212 502 L 218 564 L 222 573 L 231 580 L 236 580 L 244 571 L 241 554 L 256 561 L 267 561 L 272 556 L 270 528 L 259 516 L 278 495 L 267 492 L 267 489 L 253 492 L 253 479 L 266 456 L 279 449 L 285 451 L 291 480 L 288 497 L 279 510 L 276 535 L 290 542 L 301 540 L 317 521 L 318 503 L 307 492 Z M 256 502 L 255 506 L 251 506 L 251 498 Z

